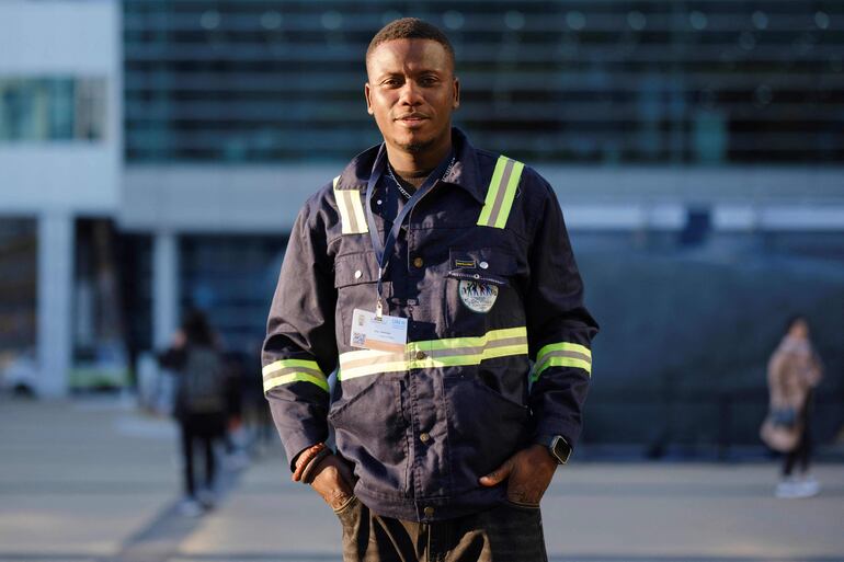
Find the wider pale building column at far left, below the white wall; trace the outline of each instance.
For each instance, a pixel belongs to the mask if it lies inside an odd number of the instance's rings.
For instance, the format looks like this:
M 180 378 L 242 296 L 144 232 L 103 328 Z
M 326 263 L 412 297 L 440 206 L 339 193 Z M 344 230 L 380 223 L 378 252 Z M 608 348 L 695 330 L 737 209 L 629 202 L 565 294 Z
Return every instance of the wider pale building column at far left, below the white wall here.
M 71 296 L 76 229 L 69 211 L 38 217 L 38 371 L 37 393 L 67 394 L 72 364 Z

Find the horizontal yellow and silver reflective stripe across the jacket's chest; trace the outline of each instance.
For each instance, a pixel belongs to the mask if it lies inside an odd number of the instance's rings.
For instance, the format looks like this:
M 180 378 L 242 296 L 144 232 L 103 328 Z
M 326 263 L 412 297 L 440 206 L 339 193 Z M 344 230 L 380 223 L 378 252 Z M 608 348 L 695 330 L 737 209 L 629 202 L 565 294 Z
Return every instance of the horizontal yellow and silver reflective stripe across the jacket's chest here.
M 527 355 L 527 329 L 492 330 L 484 335 L 411 342 L 403 352 L 361 349 L 340 354 L 338 379 L 381 372 L 479 365 L 495 357 Z

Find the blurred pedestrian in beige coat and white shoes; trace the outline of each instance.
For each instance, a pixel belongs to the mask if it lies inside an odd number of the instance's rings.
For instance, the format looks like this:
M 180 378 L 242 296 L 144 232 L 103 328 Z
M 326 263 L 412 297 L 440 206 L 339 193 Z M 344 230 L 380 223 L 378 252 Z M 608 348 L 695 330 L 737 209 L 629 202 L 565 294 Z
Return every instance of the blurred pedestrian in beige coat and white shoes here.
M 805 317 L 795 316 L 768 362 L 771 408 L 761 432 L 772 449 L 784 454 L 777 497 L 809 497 L 820 491 L 809 468 L 813 389 L 822 376 L 820 358 L 809 340 L 809 323 Z

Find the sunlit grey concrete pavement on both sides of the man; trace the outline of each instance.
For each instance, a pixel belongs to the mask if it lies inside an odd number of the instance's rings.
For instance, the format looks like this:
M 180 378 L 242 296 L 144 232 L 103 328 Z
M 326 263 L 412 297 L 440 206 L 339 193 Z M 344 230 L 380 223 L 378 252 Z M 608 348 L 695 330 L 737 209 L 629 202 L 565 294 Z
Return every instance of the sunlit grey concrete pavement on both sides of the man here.
M 844 562 L 844 466 L 821 495 L 773 497 L 773 463 L 578 462 L 543 502 L 551 560 Z M 186 518 L 174 426 L 113 399 L 0 400 L 0 562 L 340 560 L 331 511 L 278 447 L 217 509 Z

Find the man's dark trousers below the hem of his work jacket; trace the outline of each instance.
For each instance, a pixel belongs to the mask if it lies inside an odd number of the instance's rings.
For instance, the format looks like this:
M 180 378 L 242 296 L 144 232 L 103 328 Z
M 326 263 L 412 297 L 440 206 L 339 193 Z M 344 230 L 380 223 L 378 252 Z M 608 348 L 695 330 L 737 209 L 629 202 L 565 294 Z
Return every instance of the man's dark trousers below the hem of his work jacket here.
M 539 508 L 515 504 L 434 523 L 375 515 L 352 497 L 337 512 L 344 562 L 547 562 Z

